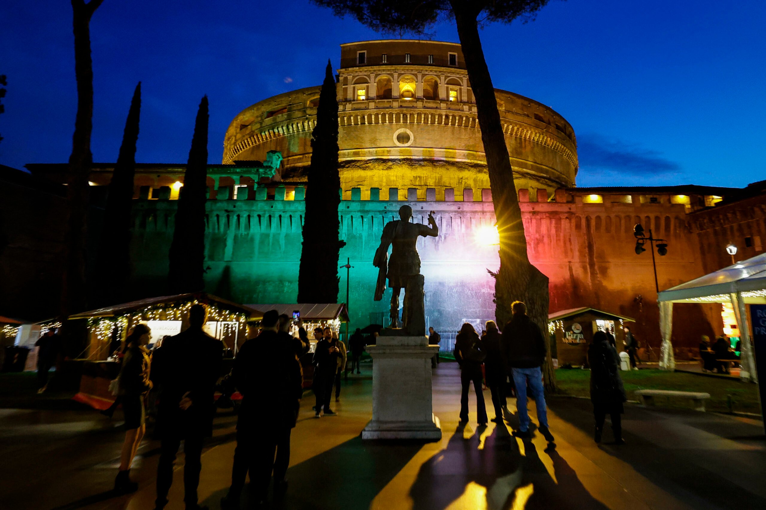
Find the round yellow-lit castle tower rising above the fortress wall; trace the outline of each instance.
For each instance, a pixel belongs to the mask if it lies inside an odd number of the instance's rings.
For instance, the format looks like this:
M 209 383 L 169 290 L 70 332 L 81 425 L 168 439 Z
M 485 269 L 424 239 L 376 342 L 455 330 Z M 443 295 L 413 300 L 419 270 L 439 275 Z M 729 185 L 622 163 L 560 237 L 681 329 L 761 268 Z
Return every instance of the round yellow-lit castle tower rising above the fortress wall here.
M 276 180 L 306 180 L 320 86 L 264 99 L 234 118 L 224 164 L 283 154 Z M 460 44 L 362 41 L 341 44 L 337 76 L 343 199 L 481 200 L 463 190 L 489 188 L 486 158 Z M 496 89 L 516 188 L 572 187 L 575 132 L 540 102 Z M 371 197 L 371 189 L 373 196 Z M 409 191 L 408 191 L 409 190 Z M 375 197 L 378 194 L 378 197 Z M 536 196 L 536 195 L 533 195 Z M 430 200 L 434 200 L 431 198 Z

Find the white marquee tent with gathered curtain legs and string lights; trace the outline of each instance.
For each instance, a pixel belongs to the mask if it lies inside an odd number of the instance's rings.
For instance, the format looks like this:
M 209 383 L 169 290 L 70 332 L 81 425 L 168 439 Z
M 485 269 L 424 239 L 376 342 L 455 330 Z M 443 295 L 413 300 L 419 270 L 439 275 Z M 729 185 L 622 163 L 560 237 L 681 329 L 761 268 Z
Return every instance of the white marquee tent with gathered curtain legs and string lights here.
M 673 370 L 676 365 L 673 359 L 673 346 L 670 343 L 670 333 L 673 329 L 673 303 L 731 303 L 742 341 L 740 377 L 746 381 L 758 382 L 745 304 L 766 304 L 766 254 L 748 258 L 728 268 L 671 287 L 660 292 L 658 301 L 660 302 L 660 332 L 663 336 L 660 352 L 661 368 Z

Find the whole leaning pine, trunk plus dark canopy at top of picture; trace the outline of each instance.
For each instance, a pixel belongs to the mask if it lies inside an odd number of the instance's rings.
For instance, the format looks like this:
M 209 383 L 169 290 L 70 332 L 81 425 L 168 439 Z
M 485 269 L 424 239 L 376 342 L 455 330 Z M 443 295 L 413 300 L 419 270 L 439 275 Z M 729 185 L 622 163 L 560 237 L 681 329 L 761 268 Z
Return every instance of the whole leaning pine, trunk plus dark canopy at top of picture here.
M 500 268 L 493 273 L 496 320 L 505 324 L 511 317 L 511 303 L 522 300 L 529 316 L 542 331 L 548 330 L 548 277 L 530 264 L 524 235 L 519 197 L 513 183 L 511 161 L 502 132 L 500 113 L 492 77 L 484 58 L 479 37 L 480 24 L 499 21 L 510 23 L 534 19 L 548 0 L 311 0 L 332 8 L 336 15 L 352 15 L 359 22 L 380 32 L 424 34 L 442 18 L 457 26 L 466 70 L 476 98 L 476 110 L 486 154 L 489 187 L 500 235 Z M 545 382 L 555 390 L 552 362 L 543 365 Z

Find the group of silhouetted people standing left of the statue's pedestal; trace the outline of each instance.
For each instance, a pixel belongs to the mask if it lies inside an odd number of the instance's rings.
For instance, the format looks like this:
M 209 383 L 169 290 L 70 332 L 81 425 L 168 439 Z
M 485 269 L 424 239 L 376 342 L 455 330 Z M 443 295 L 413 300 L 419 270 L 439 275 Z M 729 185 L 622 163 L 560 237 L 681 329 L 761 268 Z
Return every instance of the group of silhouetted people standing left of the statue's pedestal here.
M 119 352 L 119 375 L 113 381 L 113 406 L 102 411 L 112 415 L 123 406 L 125 441 L 120 455 L 114 489 L 118 494 L 135 492 L 137 482 L 130 469 L 146 432 L 146 395 L 156 398 L 155 435 L 160 440 L 155 508 L 168 504 L 173 480 L 173 465 L 184 443 L 184 502 L 188 510 L 198 510 L 197 488 L 201 473 L 201 453 L 205 437 L 212 434 L 215 414 L 214 393 L 223 369 L 223 345 L 203 331 L 207 320 L 204 305 L 195 304 L 188 312 L 188 329 L 165 337 L 153 350 L 147 348 L 152 332 L 144 323 L 136 325 Z M 290 334 L 293 321 L 277 310 L 264 313 L 260 330 L 245 342 L 228 375 L 241 394 L 237 416 L 237 447 L 231 468 L 231 487 L 221 499 L 221 508 L 240 508 L 246 476 L 254 488 L 257 502 L 267 499 L 273 476 L 276 497 L 286 492 L 286 472 L 290 464 L 290 433 L 296 426 L 303 398 L 303 368 L 300 358 L 309 353 L 309 336 L 298 324 L 298 336 Z M 316 349 L 312 356 L 313 391 L 316 417 L 334 415 L 332 395 L 340 398 L 341 376 L 346 372 L 346 348 L 331 328 L 313 331 Z M 351 370 L 360 373 L 359 359 L 365 341 L 356 330 L 349 339 Z M 45 371 L 47 373 L 47 371 Z M 335 390 L 333 392 L 333 389 Z M 267 413 L 264 413 L 267 410 Z M 264 434 L 264 415 L 270 417 L 270 432 Z

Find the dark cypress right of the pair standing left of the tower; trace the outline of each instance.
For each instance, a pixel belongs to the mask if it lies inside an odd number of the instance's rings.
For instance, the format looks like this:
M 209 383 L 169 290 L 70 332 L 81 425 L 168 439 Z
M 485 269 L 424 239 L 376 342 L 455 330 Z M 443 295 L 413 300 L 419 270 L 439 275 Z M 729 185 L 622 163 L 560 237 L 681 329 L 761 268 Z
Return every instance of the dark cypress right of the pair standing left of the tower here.
M 202 98 L 191 139 L 184 186 L 178 198 L 170 245 L 169 287 L 172 294 L 205 290 L 205 190 L 208 187 L 208 96 Z

